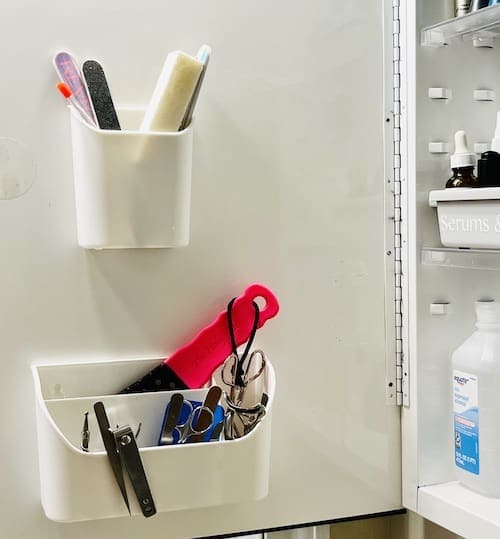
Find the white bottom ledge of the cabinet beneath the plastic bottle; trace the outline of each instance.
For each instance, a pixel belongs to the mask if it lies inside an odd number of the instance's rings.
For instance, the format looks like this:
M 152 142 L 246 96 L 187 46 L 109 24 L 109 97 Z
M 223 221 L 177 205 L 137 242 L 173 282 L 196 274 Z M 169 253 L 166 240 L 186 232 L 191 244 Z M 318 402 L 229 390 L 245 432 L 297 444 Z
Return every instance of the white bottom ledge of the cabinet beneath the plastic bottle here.
M 456 482 L 419 488 L 418 513 L 468 539 L 500 537 L 500 499 L 481 496 Z

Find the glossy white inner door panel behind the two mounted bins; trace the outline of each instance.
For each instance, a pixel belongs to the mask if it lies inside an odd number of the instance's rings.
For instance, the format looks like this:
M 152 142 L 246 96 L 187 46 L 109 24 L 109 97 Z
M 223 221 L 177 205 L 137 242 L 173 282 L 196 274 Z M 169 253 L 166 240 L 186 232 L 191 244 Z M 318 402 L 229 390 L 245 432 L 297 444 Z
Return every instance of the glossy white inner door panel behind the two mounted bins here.
M 193 537 L 400 506 L 399 410 L 385 405 L 381 7 L 4 6 L 0 135 L 26 144 L 37 176 L 0 206 L 0 409 L 3 432 L 18 433 L 0 444 L 0 536 Z M 202 43 L 213 56 L 195 119 L 189 246 L 79 248 L 52 55 L 101 60 L 116 104 L 141 106 L 167 52 Z M 282 309 L 258 339 L 277 379 L 269 496 L 148 521 L 47 521 L 30 363 L 161 356 L 254 281 Z

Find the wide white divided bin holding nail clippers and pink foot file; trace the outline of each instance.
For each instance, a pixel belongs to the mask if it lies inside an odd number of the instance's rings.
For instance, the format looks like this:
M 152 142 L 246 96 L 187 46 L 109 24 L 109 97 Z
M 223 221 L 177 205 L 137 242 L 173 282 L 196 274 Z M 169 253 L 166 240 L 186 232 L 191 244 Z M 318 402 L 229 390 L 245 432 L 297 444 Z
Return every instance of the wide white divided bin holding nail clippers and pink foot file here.
M 173 392 L 116 392 L 159 361 L 33 367 L 41 500 L 49 519 L 76 522 L 128 516 L 93 415 L 93 404 L 99 400 L 112 424 L 128 424 L 135 432 L 142 422 L 137 444 L 158 512 L 258 500 L 267 495 L 275 391 L 270 363 L 267 413 L 248 435 L 221 442 L 157 446 L 165 407 Z M 206 391 L 182 393 L 189 399 L 203 400 Z M 80 449 L 86 411 L 91 432 L 88 453 Z M 126 481 L 131 512 L 141 515 L 128 477 Z

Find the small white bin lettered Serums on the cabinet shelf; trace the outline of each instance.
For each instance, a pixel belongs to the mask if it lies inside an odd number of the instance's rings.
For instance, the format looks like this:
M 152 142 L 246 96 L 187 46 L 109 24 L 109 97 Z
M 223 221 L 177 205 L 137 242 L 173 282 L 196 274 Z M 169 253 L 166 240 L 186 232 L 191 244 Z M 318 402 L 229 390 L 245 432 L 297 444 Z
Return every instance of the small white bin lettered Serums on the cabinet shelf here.
M 500 249 L 500 188 L 449 188 L 429 193 L 445 247 Z

